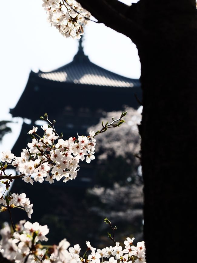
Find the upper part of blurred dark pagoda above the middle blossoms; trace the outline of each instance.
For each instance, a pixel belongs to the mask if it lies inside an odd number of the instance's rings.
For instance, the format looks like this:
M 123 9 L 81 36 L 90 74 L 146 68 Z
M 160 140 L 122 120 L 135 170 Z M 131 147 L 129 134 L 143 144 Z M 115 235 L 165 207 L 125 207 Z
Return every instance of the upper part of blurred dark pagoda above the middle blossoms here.
M 141 98 L 138 79 L 123 77 L 92 63 L 85 56 L 82 40 L 71 63 L 51 72 L 30 72 L 28 82 L 12 117 L 24 119 L 21 133 L 12 148 L 16 156 L 31 141 L 28 131 L 45 112 L 56 120 L 63 138 L 87 134 L 87 128 L 99 122 L 103 112 L 123 110 L 124 105 L 138 108 Z M 28 124 L 25 123 L 28 119 Z

